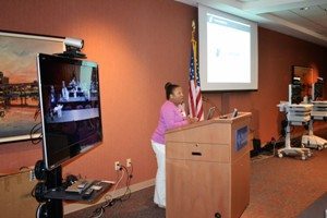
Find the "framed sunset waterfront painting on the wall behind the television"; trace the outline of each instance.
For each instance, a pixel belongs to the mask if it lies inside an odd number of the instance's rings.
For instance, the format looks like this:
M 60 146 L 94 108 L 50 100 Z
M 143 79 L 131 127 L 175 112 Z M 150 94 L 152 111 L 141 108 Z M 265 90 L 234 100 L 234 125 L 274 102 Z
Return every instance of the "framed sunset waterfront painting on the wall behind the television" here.
M 63 40 L 0 31 L 0 143 L 40 134 L 36 57 L 62 52 Z

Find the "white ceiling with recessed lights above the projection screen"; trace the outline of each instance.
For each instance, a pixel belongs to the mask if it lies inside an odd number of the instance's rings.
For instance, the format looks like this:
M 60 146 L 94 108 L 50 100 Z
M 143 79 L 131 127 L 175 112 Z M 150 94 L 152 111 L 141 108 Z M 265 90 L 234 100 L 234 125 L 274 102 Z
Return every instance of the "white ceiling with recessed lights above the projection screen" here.
M 175 0 L 203 4 L 327 47 L 327 0 Z

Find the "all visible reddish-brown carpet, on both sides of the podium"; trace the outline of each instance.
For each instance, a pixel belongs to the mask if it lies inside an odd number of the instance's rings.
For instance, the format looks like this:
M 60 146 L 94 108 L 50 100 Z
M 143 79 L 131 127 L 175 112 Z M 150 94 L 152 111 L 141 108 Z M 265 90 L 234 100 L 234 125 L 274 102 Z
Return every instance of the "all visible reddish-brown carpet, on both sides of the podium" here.
M 327 130 L 316 134 L 327 138 Z M 326 193 L 327 149 L 313 153 L 313 157 L 308 160 L 271 157 L 253 161 L 250 205 L 241 218 L 296 217 Z M 126 202 L 107 208 L 102 217 L 164 218 L 165 209 L 158 208 L 153 203 L 153 194 L 154 187 L 135 192 Z M 95 208 L 96 206 L 65 217 L 87 218 Z

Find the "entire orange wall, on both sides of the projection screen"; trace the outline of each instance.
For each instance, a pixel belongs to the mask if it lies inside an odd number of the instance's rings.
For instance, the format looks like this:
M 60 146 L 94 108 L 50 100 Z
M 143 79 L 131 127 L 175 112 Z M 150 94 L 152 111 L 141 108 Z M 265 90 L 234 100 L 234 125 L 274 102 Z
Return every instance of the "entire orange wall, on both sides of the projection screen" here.
M 149 138 L 167 81 L 186 95 L 191 21 L 196 9 L 172 0 L 0 0 L 0 29 L 81 37 L 100 68 L 104 143 L 65 172 L 114 180 L 113 161 L 134 162 L 133 183 L 155 177 Z M 264 142 L 278 136 L 291 65 L 327 72 L 327 49 L 265 28 L 258 31 L 259 89 L 205 94 L 226 113 L 253 112 L 251 129 Z M 205 104 L 205 108 L 209 107 Z M 16 157 L 16 158 L 14 158 Z M 28 143 L 0 145 L 0 172 L 34 165 L 40 150 Z

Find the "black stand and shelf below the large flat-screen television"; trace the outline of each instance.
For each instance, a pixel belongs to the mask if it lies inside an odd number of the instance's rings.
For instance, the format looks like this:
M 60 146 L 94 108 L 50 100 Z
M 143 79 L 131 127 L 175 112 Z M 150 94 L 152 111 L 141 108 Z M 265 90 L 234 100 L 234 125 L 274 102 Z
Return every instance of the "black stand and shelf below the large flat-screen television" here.
M 100 196 L 112 186 L 112 183 L 109 182 L 94 181 L 94 185 L 100 186 L 100 189 L 93 190 L 89 195 L 85 194 L 87 190 L 82 193 L 71 193 L 66 192 L 62 184 L 61 166 L 52 170 L 44 169 L 43 173 L 45 174 L 40 177 L 41 181 L 39 183 L 41 183 L 44 187 L 35 192 L 36 198 L 41 199 L 39 201 L 41 204 L 36 210 L 37 218 L 63 218 L 62 201 L 92 203 L 99 199 Z

